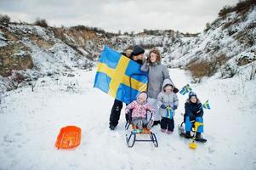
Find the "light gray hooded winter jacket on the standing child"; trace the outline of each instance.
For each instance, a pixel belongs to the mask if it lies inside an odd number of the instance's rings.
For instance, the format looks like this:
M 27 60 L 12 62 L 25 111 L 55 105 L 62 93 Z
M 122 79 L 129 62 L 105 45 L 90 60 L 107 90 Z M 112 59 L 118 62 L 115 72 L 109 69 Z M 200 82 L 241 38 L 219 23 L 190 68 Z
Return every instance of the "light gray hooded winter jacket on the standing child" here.
M 165 79 L 164 82 L 162 83 L 162 92 L 160 92 L 160 94 L 158 94 L 157 96 L 157 105 L 159 105 L 159 107 L 163 104 L 165 106 L 169 105 L 170 107 L 174 107 L 174 105 L 176 105 L 178 107 L 179 105 L 179 99 L 177 94 L 171 93 L 171 94 L 166 94 L 163 92 L 163 87 L 167 84 L 171 84 L 174 86 L 174 83 L 171 82 L 169 79 Z M 159 108 L 159 115 L 166 117 L 166 113 L 167 110 L 166 109 L 162 109 Z M 175 113 L 175 111 L 174 111 Z

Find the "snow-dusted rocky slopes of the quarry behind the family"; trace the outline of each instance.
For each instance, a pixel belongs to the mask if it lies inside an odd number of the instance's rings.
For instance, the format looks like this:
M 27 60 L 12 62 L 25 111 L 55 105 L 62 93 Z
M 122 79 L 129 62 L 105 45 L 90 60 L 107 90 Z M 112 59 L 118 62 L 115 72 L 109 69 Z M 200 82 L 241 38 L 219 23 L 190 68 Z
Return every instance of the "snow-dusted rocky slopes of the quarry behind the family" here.
M 169 67 L 190 68 L 202 60 L 212 65 L 213 60 L 220 59 L 214 71 L 221 67 L 243 69 L 256 60 L 256 8 L 253 1 L 247 2 L 249 5 L 242 4 L 242 8 L 236 4 L 229 10 L 222 9 L 219 18 L 195 35 L 172 30 L 117 35 L 86 26 L 1 23 L 0 75 L 3 79 L 20 71 L 33 79 L 66 74 L 76 68 L 90 69 L 105 44 L 120 52 L 135 44 L 158 48 Z

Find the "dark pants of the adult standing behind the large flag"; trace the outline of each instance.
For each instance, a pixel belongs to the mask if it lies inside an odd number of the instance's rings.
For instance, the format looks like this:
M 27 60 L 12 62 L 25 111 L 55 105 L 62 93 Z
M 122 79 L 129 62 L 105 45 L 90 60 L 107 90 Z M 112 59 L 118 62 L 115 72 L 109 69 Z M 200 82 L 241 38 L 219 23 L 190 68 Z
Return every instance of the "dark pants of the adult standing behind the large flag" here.
M 110 125 L 117 127 L 121 111 L 122 111 L 122 101 L 115 99 L 114 105 L 112 106 L 112 109 L 111 109 Z

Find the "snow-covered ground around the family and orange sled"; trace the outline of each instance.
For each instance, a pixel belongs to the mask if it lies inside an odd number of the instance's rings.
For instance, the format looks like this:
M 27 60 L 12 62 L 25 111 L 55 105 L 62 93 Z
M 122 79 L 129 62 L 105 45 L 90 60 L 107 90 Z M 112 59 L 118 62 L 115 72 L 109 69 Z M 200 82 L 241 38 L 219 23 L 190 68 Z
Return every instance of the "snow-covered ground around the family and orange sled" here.
M 256 169 L 255 80 L 211 77 L 191 88 L 212 110 L 204 114 L 206 144 L 189 148 L 180 138 L 179 114 L 187 96 L 179 94 L 174 134 L 153 127 L 159 147 L 125 141 L 124 114 L 115 131 L 108 128 L 113 99 L 93 88 L 94 71 L 75 71 L 75 77 L 43 77 L 35 91 L 18 88 L 3 96 L 0 108 L 0 169 Z M 178 88 L 190 75 L 171 69 Z M 60 127 L 82 128 L 75 150 L 54 147 Z

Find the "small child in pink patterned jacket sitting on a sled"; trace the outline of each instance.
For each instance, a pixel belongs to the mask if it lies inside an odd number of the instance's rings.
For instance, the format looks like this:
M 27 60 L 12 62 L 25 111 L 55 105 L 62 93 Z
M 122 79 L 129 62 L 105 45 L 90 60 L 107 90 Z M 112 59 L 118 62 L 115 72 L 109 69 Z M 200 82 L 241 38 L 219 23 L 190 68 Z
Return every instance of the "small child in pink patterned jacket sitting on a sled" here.
M 147 93 L 141 92 L 138 95 L 137 100 L 130 103 L 125 109 L 126 114 L 128 114 L 128 111 L 133 110 L 132 122 L 139 127 L 139 130 L 142 130 L 143 127 L 151 129 L 153 124 L 153 121 L 148 122 L 146 117 L 147 111 L 154 112 L 152 106 L 147 103 L 147 98 Z

